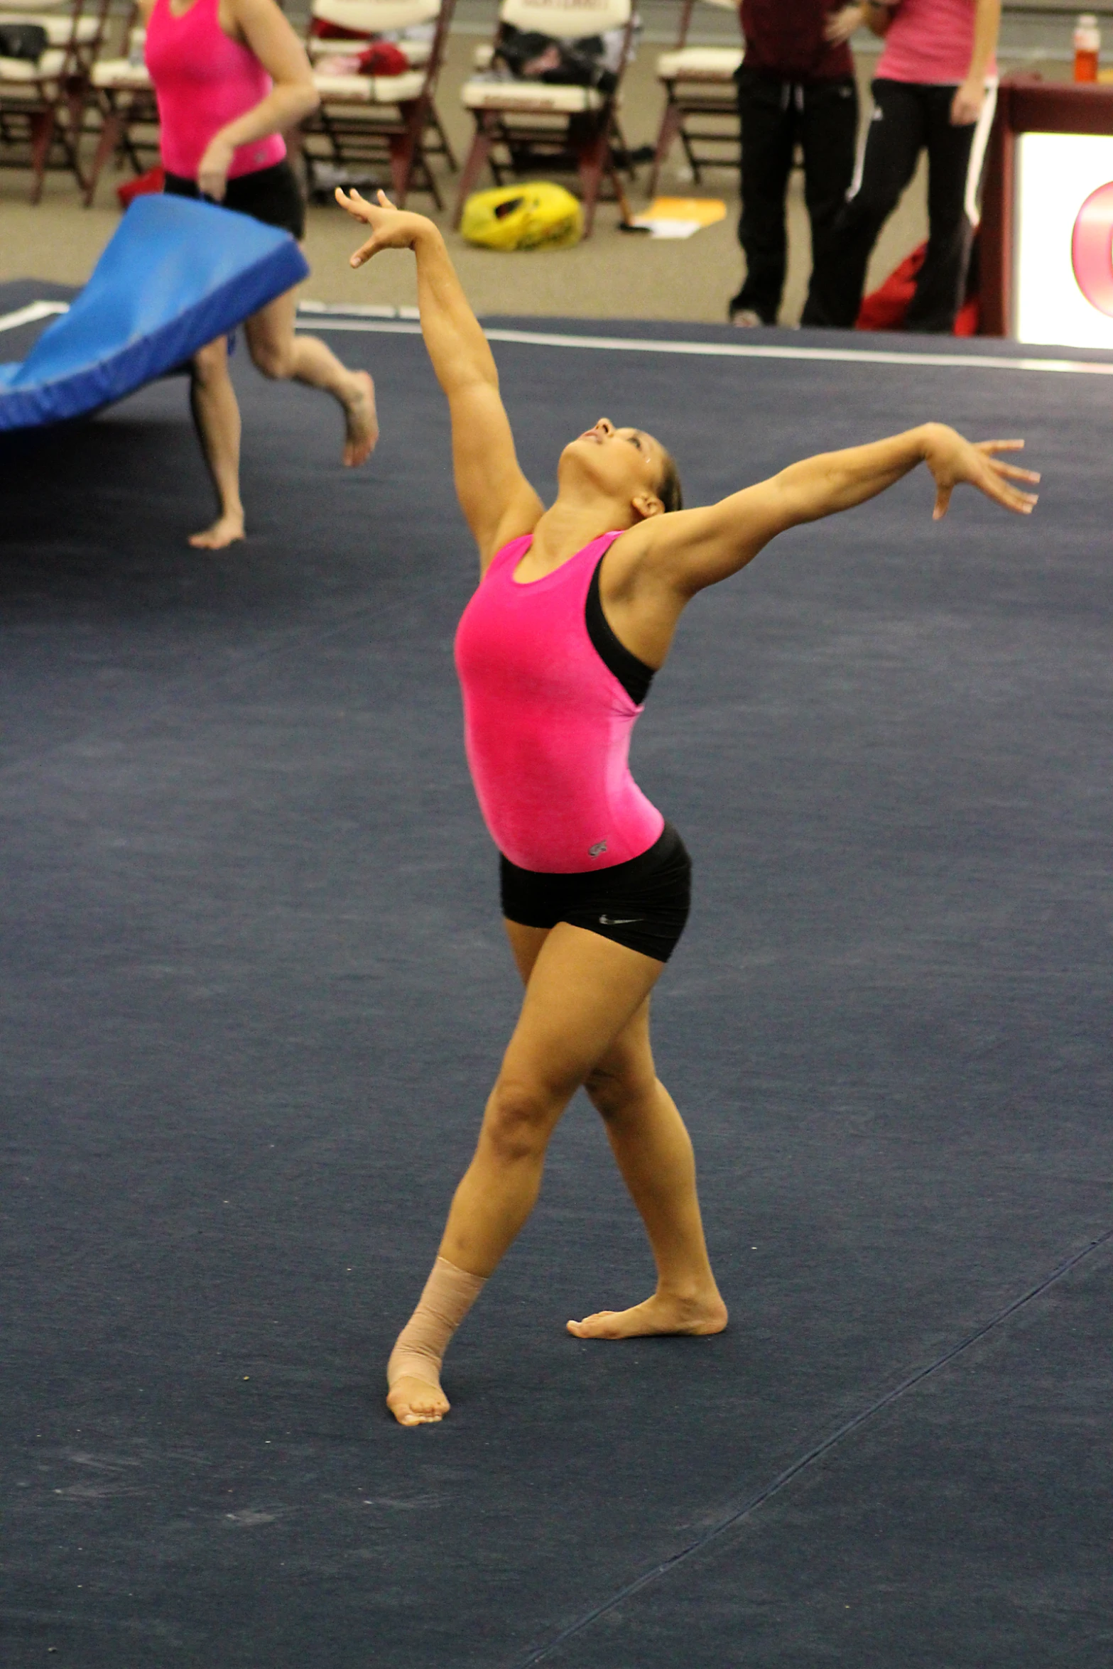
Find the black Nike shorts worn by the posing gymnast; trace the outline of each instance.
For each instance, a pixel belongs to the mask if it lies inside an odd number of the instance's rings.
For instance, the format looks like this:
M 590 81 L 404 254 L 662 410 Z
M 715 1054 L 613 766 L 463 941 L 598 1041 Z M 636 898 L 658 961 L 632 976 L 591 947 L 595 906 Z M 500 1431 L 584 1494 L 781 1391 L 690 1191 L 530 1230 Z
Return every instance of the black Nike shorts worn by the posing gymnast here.
M 569 921 L 602 938 L 667 961 L 684 931 L 692 860 L 671 823 L 649 851 L 609 870 L 546 875 L 501 858 L 502 915 L 526 928 Z

